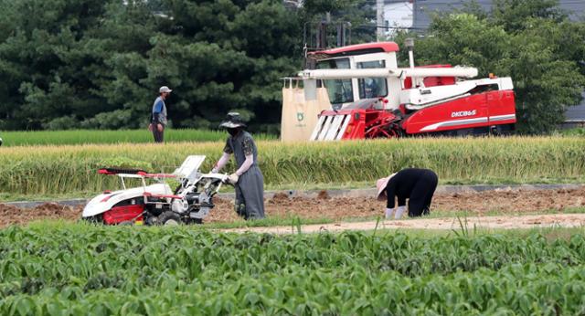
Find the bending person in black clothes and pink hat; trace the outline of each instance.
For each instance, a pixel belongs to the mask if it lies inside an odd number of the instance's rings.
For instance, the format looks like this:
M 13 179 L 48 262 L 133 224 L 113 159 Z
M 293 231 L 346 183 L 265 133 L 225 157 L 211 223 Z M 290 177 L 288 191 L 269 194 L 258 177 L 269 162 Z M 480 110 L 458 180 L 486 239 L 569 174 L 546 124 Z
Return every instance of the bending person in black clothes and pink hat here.
M 409 199 L 409 216 L 430 214 L 432 195 L 437 189 L 439 177 L 432 170 L 409 168 L 396 174 L 378 179 L 378 201 L 386 199 L 386 218 L 394 212 L 395 199 L 398 197 L 398 208 L 394 218 L 399 219 L 406 211 L 406 200 Z

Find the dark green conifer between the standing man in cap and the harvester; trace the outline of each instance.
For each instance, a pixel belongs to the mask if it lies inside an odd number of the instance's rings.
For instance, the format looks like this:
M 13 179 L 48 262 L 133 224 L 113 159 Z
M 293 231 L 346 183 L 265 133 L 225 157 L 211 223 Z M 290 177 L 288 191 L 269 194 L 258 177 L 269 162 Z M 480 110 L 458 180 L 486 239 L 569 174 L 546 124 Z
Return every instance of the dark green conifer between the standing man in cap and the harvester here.
M 145 85 L 168 83 L 178 126 L 217 127 L 232 109 L 277 124 L 280 78 L 299 65 L 300 24 L 277 0 L 164 1 L 171 18 L 151 37 Z

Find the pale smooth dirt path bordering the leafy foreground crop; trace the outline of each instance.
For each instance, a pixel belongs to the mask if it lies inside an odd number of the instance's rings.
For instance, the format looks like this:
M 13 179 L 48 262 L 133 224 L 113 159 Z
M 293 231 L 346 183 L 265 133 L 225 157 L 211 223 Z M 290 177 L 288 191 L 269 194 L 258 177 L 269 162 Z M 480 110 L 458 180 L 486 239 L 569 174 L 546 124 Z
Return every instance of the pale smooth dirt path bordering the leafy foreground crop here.
M 303 225 L 301 232 L 316 233 L 321 231 L 339 232 L 345 230 L 373 230 L 378 224 L 378 229 L 454 229 L 462 230 L 466 227 L 469 231 L 477 228 L 489 229 L 511 229 L 511 228 L 536 228 L 536 227 L 585 227 L 585 214 L 553 214 L 553 215 L 525 215 L 525 216 L 474 216 L 461 218 L 424 218 L 407 220 L 385 220 Z M 270 234 L 291 234 L 298 232 L 294 226 L 271 226 L 271 227 L 247 227 L 222 229 L 223 232 L 255 232 Z

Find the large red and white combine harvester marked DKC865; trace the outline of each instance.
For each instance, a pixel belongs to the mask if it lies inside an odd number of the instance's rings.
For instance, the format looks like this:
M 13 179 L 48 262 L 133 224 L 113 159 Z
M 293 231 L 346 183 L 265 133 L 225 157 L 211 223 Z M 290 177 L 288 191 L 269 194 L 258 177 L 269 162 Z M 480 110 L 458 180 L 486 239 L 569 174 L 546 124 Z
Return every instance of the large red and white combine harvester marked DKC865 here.
M 394 42 L 339 47 L 308 54 L 314 67 L 299 75 L 306 100 L 327 90 L 312 141 L 404 135 L 469 135 L 514 131 L 516 106 L 510 78 L 469 79 L 477 68 L 429 65 L 398 68 Z M 311 60 L 312 59 L 312 60 Z M 468 78 L 468 79 L 463 79 Z

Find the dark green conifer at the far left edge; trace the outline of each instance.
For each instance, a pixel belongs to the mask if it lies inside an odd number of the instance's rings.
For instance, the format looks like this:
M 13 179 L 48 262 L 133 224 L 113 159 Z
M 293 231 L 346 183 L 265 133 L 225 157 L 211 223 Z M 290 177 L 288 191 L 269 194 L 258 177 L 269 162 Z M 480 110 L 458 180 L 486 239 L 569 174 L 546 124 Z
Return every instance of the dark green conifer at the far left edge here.
M 3 1 L 0 10 L 0 128 L 37 129 L 102 104 L 84 33 L 100 24 L 104 1 Z M 77 121 L 77 120 L 75 120 Z M 54 124 L 53 124 L 54 125 Z

